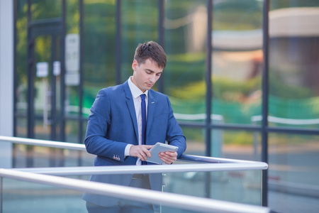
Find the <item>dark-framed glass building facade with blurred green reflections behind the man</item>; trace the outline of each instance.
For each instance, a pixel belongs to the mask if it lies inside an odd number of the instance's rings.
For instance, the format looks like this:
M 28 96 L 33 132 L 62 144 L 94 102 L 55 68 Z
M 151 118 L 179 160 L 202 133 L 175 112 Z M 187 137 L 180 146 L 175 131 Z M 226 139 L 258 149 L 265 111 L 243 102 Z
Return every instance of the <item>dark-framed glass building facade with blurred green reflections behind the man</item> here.
M 318 0 L 15 0 L 13 134 L 83 143 L 99 89 L 155 40 L 186 153 L 267 162 L 264 205 L 315 212 L 318 20 Z

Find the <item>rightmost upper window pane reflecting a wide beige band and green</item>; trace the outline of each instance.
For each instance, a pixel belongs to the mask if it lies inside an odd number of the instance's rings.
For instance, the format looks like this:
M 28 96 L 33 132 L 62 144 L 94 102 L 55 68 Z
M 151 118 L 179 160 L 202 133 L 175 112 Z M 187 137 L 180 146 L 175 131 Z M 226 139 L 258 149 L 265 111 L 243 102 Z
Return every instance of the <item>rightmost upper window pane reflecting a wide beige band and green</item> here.
M 296 2 L 269 12 L 269 125 L 318 129 L 319 4 Z

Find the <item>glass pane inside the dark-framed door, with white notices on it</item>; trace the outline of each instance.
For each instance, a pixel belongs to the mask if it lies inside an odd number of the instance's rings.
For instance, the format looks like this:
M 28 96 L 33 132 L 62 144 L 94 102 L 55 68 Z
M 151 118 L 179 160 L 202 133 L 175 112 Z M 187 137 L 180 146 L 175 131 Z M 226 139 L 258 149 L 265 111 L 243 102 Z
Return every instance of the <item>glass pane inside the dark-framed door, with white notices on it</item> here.
M 60 36 L 38 35 L 33 41 L 34 138 L 55 141 L 60 132 Z

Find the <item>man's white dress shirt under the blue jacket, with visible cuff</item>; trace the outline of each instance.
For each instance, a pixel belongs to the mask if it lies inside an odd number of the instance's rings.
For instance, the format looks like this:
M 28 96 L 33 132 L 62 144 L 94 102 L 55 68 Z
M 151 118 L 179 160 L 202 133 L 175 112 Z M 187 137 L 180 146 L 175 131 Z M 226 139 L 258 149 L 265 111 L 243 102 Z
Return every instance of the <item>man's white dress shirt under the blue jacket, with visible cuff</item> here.
M 146 104 L 146 118 L 147 118 L 147 105 L 148 105 L 148 90 L 146 90 L 144 93 L 136 87 L 136 85 L 132 82 L 131 77 L 128 78 L 128 87 L 130 87 L 130 92 L 133 96 L 133 102 L 135 107 L 135 114 L 136 119 L 138 121 L 138 145 L 142 144 L 142 109 L 141 109 L 141 102 L 142 99 L 140 97 L 141 94 L 145 94 L 145 104 Z M 125 156 L 130 155 L 130 147 L 133 146 L 132 144 L 128 144 L 128 146 L 125 147 Z M 138 158 L 138 161 L 136 162 L 136 165 L 140 165 L 140 158 Z

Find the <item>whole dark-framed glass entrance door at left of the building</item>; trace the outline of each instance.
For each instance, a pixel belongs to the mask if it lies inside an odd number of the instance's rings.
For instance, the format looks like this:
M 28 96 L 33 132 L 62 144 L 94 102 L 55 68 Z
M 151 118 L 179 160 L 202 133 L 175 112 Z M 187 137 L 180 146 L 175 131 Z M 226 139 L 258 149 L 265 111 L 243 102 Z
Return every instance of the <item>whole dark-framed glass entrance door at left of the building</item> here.
M 62 126 L 62 22 L 31 23 L 28 29 L 28 137 L 59 140 Z

